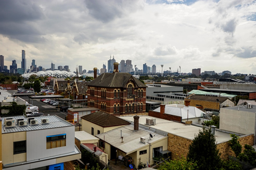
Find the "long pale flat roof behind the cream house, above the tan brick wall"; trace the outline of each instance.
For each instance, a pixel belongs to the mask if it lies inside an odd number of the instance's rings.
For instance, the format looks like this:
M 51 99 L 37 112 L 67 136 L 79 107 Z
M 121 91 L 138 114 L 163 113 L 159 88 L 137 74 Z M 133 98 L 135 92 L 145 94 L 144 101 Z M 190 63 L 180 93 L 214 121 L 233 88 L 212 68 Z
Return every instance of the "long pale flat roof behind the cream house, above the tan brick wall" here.
M 123 116 L 121 119 L 133 122 L 133 116 Z M 146 119 L 156 119 L 156 125 L 146 125 Z M 139 124 L 144 126 L 148 126 L 148 129 L 160 130 L 163 132 L 167 132 L 176 136 L 180 136 L 183 138 L 187 138 L 193 140 L 195 135 L 199 133 L 199 130 L 202 131 L 202 127 L 194 126 L 194 125 L 185 125 L 183 123 L 177 123 L 174 121 L 169 121 L 165 119 L 155 118 L 151 116 L 140 116 Z M 220 144 L 224 141 L 230 140 L 231 136 L 229 133 L 215 131 L 216 143 Z

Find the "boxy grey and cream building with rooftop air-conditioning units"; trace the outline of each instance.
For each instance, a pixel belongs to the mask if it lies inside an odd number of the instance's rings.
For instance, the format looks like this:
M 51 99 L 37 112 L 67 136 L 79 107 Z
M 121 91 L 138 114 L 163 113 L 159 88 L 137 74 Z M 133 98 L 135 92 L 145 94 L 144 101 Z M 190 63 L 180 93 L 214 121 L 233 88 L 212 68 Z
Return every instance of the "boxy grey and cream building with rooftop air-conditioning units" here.
M 74 135 L 74 125 L 57 116 L 6 117 L 2 121 L 3 169 L 48 169 L 80 159 Z

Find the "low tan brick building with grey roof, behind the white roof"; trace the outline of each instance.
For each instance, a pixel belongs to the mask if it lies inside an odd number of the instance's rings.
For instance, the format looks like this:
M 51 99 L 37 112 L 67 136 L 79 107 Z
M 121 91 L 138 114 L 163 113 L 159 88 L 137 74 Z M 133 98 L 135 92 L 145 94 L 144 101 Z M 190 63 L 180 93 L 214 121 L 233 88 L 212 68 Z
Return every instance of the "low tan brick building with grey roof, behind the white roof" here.
M 220 110 L 221 107 L 235 106 L 228 97 L 206 96 L 191 94 L 185 98 L 189 106 L 195 106 L 204 110 Z

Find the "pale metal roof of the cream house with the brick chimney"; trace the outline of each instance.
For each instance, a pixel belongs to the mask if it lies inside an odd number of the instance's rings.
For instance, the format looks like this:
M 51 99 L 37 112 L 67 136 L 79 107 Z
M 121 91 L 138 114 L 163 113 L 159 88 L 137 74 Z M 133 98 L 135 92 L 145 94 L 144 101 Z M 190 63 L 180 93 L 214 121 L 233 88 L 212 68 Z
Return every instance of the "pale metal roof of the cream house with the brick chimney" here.
M 151 131 L 148 129 L 139 128 L 138 131 L 134 131 L 133 125 L 126 125 L 123 127 L 119 127 L 117 129 L 108 131 L 106 133 L 101 133 L 96 135 L 98 138 L 104 140 L 110 145 L 122 150 L 126 154 L 132 153 L 139 148 L 145 147 L 149 145 L 150 143 L 153 143 L 155 141 L 161 140 L 164 137 L 167 138 L 167 136 L 160 135 L 158 133 L 155 133 L 155 131 Z M 122 130 L 122 137 L 123 142 L 121 139 L 121 130 Z M 152 134 L 154 137 L 149 139 L 149 134 Z M 145 138 L 145 144 L 140 142 L 140 137 Z

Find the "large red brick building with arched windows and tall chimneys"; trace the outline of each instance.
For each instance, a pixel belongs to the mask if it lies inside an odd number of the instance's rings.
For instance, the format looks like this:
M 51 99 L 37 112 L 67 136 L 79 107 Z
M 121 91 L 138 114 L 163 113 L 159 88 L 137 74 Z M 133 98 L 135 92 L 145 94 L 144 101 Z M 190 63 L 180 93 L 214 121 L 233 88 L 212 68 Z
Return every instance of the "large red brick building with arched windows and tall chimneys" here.
M 119 73 L 114 63 L 113 73 L 97 76 L 87 84 L 88 106 L 114 115 L 136 114 L 146 111 L 146 85 L 129 73 Z

